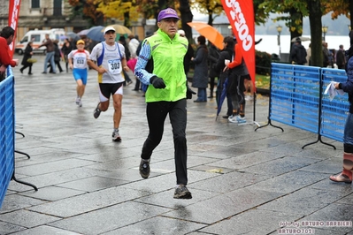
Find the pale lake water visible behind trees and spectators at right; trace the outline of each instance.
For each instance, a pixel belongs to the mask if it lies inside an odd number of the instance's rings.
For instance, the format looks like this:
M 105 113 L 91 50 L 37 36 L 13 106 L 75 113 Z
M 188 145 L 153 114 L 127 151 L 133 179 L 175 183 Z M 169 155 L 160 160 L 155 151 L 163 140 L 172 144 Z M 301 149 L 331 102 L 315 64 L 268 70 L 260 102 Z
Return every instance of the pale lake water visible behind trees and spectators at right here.
M 303 35 L 303 37 L 309 37 L 310 35 Z M 289 53 L 290 49 L 290 35 L 280 35 L 280 47 L 277 45 L 277 35 L 255 35 L 255 40 L 258 41 L 262 38 L 262 41 L 255 45 L 255 49 L 259 51 L 265 51 L 270 54 Z M 329 49 L 339 49 L 342 44 L 343 49 L 349 49 L 349 36 L 327 36 L 325 37 L 328 43 Z M 309 48 L 311 42 L 302 42 L 305 49 Z

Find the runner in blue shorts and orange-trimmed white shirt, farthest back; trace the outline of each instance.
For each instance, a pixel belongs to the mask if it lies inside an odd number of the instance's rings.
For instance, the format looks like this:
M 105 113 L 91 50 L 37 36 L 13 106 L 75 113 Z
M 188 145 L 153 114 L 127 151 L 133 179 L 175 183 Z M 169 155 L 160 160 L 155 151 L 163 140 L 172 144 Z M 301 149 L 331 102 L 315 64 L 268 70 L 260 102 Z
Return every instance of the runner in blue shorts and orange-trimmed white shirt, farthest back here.
M 76 42 L 77 49 L 73 49 L 67 58 L 69 59 L 70 68 L 73 70 L 73 78 L 76 80 L 77 87 L 77 97 L 76 104 L 79 107 L 82 107 L 82 96 L 85 93 L 85 88 L 87 84 L 88 77 L 88 64 L 87 60 L 89 57 L 89 52 L 84 49 L 85 42 L 83 40 L 79 40 Z

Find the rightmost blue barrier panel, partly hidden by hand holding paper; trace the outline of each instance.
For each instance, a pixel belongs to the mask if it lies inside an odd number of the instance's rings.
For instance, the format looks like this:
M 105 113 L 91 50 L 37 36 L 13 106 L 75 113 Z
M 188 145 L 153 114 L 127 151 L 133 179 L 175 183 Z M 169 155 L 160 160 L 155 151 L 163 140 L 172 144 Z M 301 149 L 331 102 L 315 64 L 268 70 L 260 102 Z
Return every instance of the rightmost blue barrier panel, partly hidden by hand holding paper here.
M 345 82 L 347 74 L 344 70 L 322 68 L 323 93 L 331 81 Z M 330 139 L 343 141 L 344 125 L 349 113 L 348 95 L 336 95 L 330 101 L 329 95 L 322 95 L 320 134 Z

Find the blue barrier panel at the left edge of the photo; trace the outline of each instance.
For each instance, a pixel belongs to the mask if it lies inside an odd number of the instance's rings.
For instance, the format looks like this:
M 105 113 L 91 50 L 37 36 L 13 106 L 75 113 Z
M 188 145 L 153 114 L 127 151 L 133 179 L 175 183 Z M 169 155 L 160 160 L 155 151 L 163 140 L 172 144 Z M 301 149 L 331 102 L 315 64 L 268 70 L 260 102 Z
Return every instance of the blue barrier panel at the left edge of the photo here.
M 0 208 L 14 172 L 14 78 L 9 76 L 0 82 Z

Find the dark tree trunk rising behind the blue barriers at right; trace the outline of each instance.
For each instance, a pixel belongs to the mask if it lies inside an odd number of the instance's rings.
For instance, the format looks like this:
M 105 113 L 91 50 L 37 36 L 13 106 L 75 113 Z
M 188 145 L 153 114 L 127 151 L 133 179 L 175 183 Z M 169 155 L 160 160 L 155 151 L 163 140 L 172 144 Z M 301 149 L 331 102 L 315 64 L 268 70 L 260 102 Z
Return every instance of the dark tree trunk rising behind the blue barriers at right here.
M 311 27 L 311 65 L 322 67 L 322 12 L 320 0 L 308 1 Z

